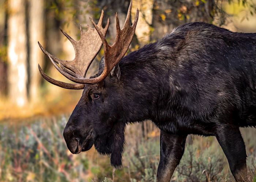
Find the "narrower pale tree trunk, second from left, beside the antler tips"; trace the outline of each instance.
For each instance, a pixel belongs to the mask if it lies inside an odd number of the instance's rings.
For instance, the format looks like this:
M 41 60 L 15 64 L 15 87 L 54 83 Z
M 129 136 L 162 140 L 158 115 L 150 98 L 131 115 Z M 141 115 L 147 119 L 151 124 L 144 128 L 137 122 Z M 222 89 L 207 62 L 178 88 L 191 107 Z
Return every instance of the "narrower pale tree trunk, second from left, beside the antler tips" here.
M 44 0 L 29 1 L 29 44 L 30 44 L 30 100 L 39 99 L 39 84 L 41 75 L 38 64 L 43 66 L 44 54 L 37 41 L 44 45 Z

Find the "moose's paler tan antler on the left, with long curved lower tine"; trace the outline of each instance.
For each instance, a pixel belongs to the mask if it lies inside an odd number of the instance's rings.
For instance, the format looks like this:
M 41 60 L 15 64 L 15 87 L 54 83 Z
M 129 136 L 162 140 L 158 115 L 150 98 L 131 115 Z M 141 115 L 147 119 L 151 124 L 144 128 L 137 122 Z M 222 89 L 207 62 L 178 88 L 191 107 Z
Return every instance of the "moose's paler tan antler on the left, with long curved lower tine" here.
M 104 16 L 104 11 L 102 10 L 101 16 L 99 18 L 98 26 L 99 30 L 102 32 L 103 36 L 105 37 L 108 27 L 109 27 L 109 19 L 105 28 L 102 27 L 102 20 Z M 88 30 L 83 32 L 82 26 L 80 25 L 80 40 L 75 41 L 72 39 L 67 33 L 65 33 L 61 28 L 61 32 L 68 38 L 68 40 L 72 43 L 75 49 L 75 59 L 72 61 L 61 60 L 56 58 L 55 56 L 51 55 L 47 52 L 41 44 L 38 42 L 39 47 L 41 50 L 46 54 L 52 62 L 54 62 L 55 66 L 56 63 L 59 63 L 62 70 L 69 73 L 70 75 L 85 77 L 88 68 L 90 67 L 91 63 L 93 62 L 95 56 L 98 54 L 99 50 L 102 46 L 102 41 L 98 32 L 95 28 L 90 28 L 89 25 Z M 56 63 L 55 63 L 56 62 Z M 58 67 L 58 66 L 57 66 Z M 58 67 L 59 68 L 59 67 Z M 46 79 L 48 82 L 57 85 L 62 88 L 68 89 L 83 89 L 84 84 L 71 84 L 71 83 L 64 83 L 58 80 L 54 80 L 47 76 L 41 69 L 38 64 L 38 69 L 40 74 Z

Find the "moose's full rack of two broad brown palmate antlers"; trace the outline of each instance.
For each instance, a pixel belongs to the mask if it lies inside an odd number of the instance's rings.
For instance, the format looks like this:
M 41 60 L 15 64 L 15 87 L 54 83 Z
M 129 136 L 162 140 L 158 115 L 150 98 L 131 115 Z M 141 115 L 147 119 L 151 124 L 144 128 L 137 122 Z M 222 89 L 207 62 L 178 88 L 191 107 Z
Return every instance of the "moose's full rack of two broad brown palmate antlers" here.
M 136 17 L 132 25 L 130 25 L 131 19 L 131 8 L 132 1 L 129 5 L 127 17 L 125 19 L 125 23 L 122 29 L 120 29 L 118 16 L 116 13 L 116 39 L 112 46 L 109 46 L 105 39 L 106 31 L 109 26 L 109 20 L 105 28 L 102 28 L 102 19 L 103 19 L 103 11 L 101 17 L 99 19 L 98 25 L 94 23 L 91 19 L 95 28 L 88 27 L 88 31 L 83 33 L 81 29 L 81 39 L 77 42 L 69 37 L 65 32 L 64 35 L 71 41 L 75 48 L 75 59 L 73 61 L 64 61 L 56 58 L 55 56 L 50 55 L 47 51 L 42 48 L 39 44 L 42 51 L 50 58 L 54 67 L 66 78 L 75 82 L 76 84 L 64 83 L 57 80 L 54 80 L 47 76 L 38 65 L 39 72 L 41 75 L 50 83 L 55 84 L 59 87 L 68 88 L 68 89 L 83 89 L 84 84 L 96 84 L 104 80 L 111 70 L 116 66 L 116 64 L 123 58 L 125 53 L 127 52 L 129 45 L 131 44 L 133 35 L 135 33 L 136 24 L 138 22 L 139 10 L 137 9 Z M 96 35 L 97 31 L 97 35 Z M 99 43 L 99 40 L 101 42 Z M 96 78 L 86 79 L 86 72 L 97 55 L 98 51 L 102 46 L 102 42 L 104 45 L 104 57 L 105 57 L 105 67 L 102 74 Z M 59 63 L 60 67 L 56 64 Z

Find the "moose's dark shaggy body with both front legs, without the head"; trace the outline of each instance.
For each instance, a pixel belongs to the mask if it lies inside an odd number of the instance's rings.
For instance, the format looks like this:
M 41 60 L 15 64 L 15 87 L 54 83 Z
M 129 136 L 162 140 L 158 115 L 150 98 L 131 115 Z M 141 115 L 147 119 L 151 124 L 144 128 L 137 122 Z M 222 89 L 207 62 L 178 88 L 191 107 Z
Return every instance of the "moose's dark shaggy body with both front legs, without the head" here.
M 256 33 L 190 23 L 138 52 L 120 69 L 134 60 L 150 75 L 144 76 L 154 101 L 149 119 L 161 129 L 158 181 L 170 180 L 188 134 L 215 136 L 235 179 L 246 181 L 239 127 L 256 126 Z

